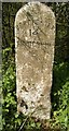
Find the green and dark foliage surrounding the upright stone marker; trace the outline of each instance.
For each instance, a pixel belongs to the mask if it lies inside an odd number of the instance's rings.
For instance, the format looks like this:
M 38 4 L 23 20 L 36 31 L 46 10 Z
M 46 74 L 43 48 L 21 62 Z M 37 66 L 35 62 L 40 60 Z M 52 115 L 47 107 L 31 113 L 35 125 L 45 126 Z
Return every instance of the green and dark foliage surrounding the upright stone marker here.
M 25 3 L 24 3 L 25 4 Z M 45 3 L 44 3 L 45 4 Z M 69 2 L 46 3 L 56 16 L 56 45 L 50 121 L 39 121 L 17 114 L 14 21 L 20 2 L 2 3 L 2 92 L 3 131 L 69 131 Z

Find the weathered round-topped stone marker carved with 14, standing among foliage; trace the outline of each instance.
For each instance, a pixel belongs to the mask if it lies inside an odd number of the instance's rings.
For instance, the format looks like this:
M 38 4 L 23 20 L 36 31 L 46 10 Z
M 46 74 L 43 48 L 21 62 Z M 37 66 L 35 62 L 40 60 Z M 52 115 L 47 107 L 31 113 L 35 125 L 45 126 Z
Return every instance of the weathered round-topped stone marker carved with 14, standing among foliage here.
M 17 110 L 50 119 L 55 16 L 40 3 L 29 2 L 15 17 Z

